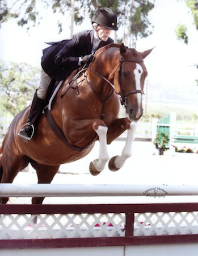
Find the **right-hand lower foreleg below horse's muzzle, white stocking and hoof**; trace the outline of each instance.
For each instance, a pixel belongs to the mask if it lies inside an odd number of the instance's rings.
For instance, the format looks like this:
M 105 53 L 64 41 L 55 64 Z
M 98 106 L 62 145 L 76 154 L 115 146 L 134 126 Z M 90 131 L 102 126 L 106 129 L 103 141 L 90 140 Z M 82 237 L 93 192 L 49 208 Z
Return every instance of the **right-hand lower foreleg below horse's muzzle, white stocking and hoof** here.
M 121 167 L 123 167 L 125 161 L 132 155 L 132 143 L 134 139 L 134 134 L 136 132 L 136 127 L 137 122 L 130 123 L 130 127 L 127 130 L 127 141 L 125 143 L 121 156 L 113 156 L 113 158 L 109 160 L 109 170 L 118 171 Z

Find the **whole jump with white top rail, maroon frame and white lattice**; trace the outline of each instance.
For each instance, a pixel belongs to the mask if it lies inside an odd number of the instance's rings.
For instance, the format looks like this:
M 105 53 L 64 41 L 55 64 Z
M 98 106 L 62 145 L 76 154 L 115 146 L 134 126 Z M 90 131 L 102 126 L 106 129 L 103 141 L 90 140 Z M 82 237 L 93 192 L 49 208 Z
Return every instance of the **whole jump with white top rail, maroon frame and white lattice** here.
M 111 196 L 197 194 L 187 185 L 0 184 L 0 196 L 108 196 L 106 204 L 1 205 L 0 254 L 196 256 L 198 203 L 112 204 Z

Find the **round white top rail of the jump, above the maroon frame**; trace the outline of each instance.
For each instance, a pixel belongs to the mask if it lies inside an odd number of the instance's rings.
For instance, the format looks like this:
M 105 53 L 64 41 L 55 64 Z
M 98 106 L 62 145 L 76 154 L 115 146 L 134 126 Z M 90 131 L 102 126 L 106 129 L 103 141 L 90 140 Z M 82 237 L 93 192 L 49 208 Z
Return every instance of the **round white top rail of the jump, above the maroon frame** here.
M 0 197 L 197 196 L 197 185 L 0 184 Z

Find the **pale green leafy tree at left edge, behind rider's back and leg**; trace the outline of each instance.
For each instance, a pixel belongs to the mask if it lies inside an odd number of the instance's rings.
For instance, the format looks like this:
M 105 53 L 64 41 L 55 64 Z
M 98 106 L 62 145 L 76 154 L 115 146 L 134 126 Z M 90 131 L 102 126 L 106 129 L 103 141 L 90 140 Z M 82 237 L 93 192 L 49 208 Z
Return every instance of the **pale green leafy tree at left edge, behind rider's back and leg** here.
M 40 69 L 26 63 L 0 63 L 0 109 L 13 116 L 31 101 L 40 81 Z

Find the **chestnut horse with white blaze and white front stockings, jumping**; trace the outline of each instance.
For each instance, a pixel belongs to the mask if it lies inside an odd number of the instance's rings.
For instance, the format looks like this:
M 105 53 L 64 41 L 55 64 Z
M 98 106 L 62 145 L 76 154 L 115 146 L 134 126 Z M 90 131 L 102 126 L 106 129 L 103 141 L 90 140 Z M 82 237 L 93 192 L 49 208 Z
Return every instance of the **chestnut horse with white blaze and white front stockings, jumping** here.
M 98 175 L 109 160 L 107 144 L 128 130 L 121 156 L 109 161 L 109 169 L 119 170 L 131 155 L 136 122 L 142 115 L 142 93 L 147 71 L 142 53 L 124 44 L 110 44 L 98 49 L 94 60 L 73 79 L 74 72 L 61 85 L 53 100 L 50 117 L 56 121 L 65 141 L 60 139 L 42 114 L 36 132 L 28 143 L 18 136 L 27 122 L 30 106 L 12 121 L 0 148 L 1 183 L 12 183 L 20 170 L 30 163 L 38 183 L 50 183 L 63 163 L 73 162 L 89 154 L 99 140 L 99 157 L 90 164 L 92 175 Z M 127 117 L 118 118 L 120 98 Z M 32 198 L 41 204 L 44 197 Z M 8 198 L 1 198 L 3 204 Z

